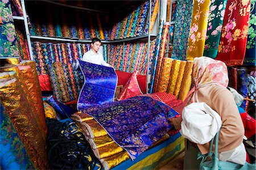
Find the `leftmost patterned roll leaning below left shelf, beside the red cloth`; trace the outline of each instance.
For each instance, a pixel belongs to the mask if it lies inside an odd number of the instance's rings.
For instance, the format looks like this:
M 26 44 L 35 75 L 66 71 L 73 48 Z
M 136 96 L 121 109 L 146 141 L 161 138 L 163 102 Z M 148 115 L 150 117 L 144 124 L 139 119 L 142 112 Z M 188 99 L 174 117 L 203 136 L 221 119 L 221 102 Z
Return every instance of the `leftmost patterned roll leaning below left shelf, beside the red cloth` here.
M 48 71 L 49 71 L 48 74 L 49 74 L 49 79 L 51 81 L 53 96 L 57 99 L 57 101 L 63 101 L 63 95 L 62 95 L 61 90 L 60 90 L 60 84 L 59 84 L 59 81 L 57 79 L 57 76 L 56 76 L 55 70 L 53 68 L 53 65 L 48 64 L 47 68 L 48 68 Z

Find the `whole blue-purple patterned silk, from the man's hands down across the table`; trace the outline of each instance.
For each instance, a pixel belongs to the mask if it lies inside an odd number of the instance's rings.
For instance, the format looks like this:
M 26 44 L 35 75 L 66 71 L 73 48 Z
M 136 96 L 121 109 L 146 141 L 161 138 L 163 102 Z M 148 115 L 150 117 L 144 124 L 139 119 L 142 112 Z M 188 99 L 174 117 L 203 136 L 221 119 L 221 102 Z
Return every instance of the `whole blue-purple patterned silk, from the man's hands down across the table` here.
M 80 61 L 85 76 L 78 110 L 91 115 L 135 159 L 170 129 L 167 118 L 178 115 L 170 106 L 147 96 L 113 101 L 114 69 Z

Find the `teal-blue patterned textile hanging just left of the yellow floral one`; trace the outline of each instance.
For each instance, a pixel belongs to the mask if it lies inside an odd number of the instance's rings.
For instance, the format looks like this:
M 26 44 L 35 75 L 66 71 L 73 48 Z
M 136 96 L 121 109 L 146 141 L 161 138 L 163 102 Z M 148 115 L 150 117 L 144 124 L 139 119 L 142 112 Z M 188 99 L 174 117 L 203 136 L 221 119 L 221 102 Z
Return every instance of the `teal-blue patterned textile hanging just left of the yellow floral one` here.
M 177 1 L 172 59 L 186 60 L 189 28 L 192 18 L 193 0 Z

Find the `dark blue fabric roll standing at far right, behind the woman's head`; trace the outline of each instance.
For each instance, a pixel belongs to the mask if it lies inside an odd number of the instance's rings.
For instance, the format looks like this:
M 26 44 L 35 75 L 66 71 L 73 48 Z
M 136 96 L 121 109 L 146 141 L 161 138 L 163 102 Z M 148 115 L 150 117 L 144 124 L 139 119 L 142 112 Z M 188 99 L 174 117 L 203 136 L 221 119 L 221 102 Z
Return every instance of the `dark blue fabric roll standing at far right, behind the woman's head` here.
M 247 73 L 248 70 L 245 67 L 237 69 L 237 92 L 240 93 L 244 98 L 247 97 Z M 242 102 L 242 107 L 245 109 L 246 101 Z

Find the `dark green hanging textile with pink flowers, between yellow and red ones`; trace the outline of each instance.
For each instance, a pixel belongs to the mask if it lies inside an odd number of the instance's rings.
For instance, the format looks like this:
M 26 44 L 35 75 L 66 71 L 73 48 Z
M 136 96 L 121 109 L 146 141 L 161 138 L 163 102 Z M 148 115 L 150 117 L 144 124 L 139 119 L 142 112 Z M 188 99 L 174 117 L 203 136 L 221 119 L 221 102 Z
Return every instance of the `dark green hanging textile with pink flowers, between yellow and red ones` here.
M 218 44 L 220 43 L 221 28 L 223 24 L 226 1 L 212 1 L 208 16 L 207 38 L 204 44 L 204 56 L 215 59 L 218 53 Z

